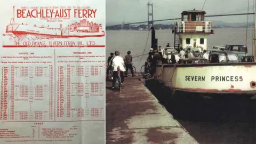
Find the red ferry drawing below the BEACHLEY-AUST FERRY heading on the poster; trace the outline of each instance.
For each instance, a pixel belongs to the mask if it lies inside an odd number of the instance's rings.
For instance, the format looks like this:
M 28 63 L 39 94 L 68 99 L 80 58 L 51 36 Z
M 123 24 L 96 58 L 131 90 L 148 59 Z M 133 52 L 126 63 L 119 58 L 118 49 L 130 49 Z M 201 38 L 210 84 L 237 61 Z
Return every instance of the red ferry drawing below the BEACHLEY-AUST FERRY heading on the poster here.
M 6 26 L 6 33 L 12 33 L 19 39 L 28 35 L 35 36 L 39 39 L 50 38 L 84 38 L 84 37 L 102 37 L 105 36 L 105 31 L 102 29 L 102 24 L 93 23 L 86 19 L 79 22 L 71 23 L 67 27 L 52 28 L 48 26 L 28 25 L 25 23 L 14 23 L 14 18 L 11 19 L 10 25 Z

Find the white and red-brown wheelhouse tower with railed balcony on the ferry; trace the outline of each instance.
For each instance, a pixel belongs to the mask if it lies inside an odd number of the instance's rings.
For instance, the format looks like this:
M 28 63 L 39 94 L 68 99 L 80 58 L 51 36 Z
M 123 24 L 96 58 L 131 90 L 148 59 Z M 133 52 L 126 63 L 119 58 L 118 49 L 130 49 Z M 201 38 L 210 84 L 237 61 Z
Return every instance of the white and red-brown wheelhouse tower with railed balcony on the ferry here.
M 197 48 L 200 52 L 207 50 L 207 36 L 214 34 L 212 22 L 204 21 L 205 11 L 183 11 L 181 21 L 174 22 L 174 49 L 180 47 Z

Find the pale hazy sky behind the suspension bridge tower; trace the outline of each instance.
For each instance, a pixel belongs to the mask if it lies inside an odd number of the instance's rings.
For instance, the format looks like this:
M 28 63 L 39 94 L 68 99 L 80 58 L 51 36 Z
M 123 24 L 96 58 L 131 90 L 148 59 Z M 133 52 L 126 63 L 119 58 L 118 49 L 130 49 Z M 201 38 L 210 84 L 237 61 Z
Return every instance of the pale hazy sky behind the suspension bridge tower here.
M 154 20 L 180 18 L 186 10 L 202 10 L 206 15 L 247 13 L 248 0 L 151 0 Z M 106 0 L 106 24 L 116 25 L 129 22 L 147 21 L 148 0 Z M 253 0 L 249 0 L 249 13 L 254 12 Z M 204 5 L 204 7 L 203 7 Z M 249 15 L 253 21 L 254 15 Z M 206 18 L 206 21 L 246 22 L 247 15 Z M 163 23 L 163 22 L 161 22 Z M 173 23 L 173 22 L 171 22 Z

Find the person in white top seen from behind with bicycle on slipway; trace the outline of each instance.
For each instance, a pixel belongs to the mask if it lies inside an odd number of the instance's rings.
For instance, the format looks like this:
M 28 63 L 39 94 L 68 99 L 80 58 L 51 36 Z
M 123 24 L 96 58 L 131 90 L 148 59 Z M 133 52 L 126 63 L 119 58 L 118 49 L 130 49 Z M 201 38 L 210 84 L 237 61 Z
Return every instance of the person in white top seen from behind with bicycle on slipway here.
M 119 51 L 115 51 L 115 55 L 116 57 L 112 60 L 112 66 L 114 67 L 113 70 L 113 80 L 112 80 L 112 89 L 115 89 L 115 84 L 116 84 L 116 79 L 118 77 L 117 74 L 117 67 L 120 68 L 120 77 L 121 77 L 121 83 L 124 83 L 124 59 L 122 57 L 120 57 L 120 52 Z

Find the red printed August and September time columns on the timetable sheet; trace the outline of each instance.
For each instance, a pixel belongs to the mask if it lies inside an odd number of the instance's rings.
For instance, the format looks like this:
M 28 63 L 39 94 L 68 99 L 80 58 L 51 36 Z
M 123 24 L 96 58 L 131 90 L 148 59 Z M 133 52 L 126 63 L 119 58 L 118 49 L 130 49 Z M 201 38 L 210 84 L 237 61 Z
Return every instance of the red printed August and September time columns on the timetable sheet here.
M 10 53 L 1 57 L 0 121 L 105 117 L 105 57 L 74 50 L 61 52 L 61 56 L 51 52 L 33 52 L 27 59 Z

